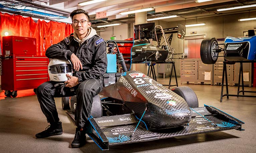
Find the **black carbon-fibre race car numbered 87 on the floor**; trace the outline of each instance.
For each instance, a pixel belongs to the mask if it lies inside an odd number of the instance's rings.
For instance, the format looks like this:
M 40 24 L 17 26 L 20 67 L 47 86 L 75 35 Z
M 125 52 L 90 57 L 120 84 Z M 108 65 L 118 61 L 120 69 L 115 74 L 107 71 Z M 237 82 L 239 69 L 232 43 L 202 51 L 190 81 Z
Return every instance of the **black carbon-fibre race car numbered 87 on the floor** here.
M 123 61 L 118 49 L 117 52 L 119 61 Z M 127 71 L 125 64 L 121 65 L 124 73 L 115 74 L 119 77 L 116 83 L 105 86 L 93 98 L 86 133 L 100 149 L 198 133 L 243 130 L 244 122 L 239 119 L 213 106 L 198 107 L 191 88 L 170 90 L 151 77 Z M 62 104 L 70 104 L 68 112 L 74 117 L 76 98 L 62 100 Z

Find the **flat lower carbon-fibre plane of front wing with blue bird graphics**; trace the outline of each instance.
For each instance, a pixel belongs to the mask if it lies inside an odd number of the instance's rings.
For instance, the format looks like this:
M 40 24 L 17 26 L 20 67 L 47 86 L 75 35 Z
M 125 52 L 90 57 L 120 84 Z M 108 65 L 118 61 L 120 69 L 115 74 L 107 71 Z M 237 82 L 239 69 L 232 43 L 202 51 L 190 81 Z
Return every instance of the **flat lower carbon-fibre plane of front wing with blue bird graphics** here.
M 215 123 L 217 126 L 213 126 L 203 117 L 196 117 L 191 119 L 189 125 L 181 127 L 158 130 L 146 130 L 138 127 L 132 138 L 130 136 L 134 132 L 136 125 L 106 127 L 101 128 L 101 131 L 108 139 L 109 146 L 112 146 L 125 143 L 152 141 L 163 138 L 240 128 L 238 125 L 220 120 L 214 116 L 207 116 L 206 118 Z

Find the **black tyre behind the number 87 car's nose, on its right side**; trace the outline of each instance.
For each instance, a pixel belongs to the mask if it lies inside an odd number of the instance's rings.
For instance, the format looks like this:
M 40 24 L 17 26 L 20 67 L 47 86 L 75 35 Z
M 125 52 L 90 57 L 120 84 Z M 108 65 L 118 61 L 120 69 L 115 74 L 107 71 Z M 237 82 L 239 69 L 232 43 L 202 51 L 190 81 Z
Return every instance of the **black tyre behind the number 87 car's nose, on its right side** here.
M 172 91 L 181 96 L 188 103 L 189 107 L 198 107 L 198 99 L 196 93 L 188 86 L 179 86 L 172 88 Z

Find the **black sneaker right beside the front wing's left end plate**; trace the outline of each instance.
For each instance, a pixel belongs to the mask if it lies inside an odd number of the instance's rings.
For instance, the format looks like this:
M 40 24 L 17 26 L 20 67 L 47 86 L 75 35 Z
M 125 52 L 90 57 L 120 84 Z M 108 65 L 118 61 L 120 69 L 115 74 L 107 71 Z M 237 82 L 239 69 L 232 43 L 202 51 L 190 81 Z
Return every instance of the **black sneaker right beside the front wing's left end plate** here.
M 85 136 L 85 132 L 83 132 L 82 128 L 76 128 L 75 129 L 75 138 L 71 143 L 71 147 L 72 148 L 78 148 L 81 147 L 85 144 L 86 142 L 86 136 Z

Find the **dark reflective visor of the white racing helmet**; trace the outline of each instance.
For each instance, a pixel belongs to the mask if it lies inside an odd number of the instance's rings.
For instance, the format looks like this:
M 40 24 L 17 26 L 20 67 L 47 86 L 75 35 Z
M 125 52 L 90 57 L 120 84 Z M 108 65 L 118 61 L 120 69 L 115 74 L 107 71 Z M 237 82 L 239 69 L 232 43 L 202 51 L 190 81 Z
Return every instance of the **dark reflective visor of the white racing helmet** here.
M 71 73 L 72 65 L 71 64 L 57 64 L 50 66 L 49 69 L 51 74 L 63 74 L 63 73 Z

